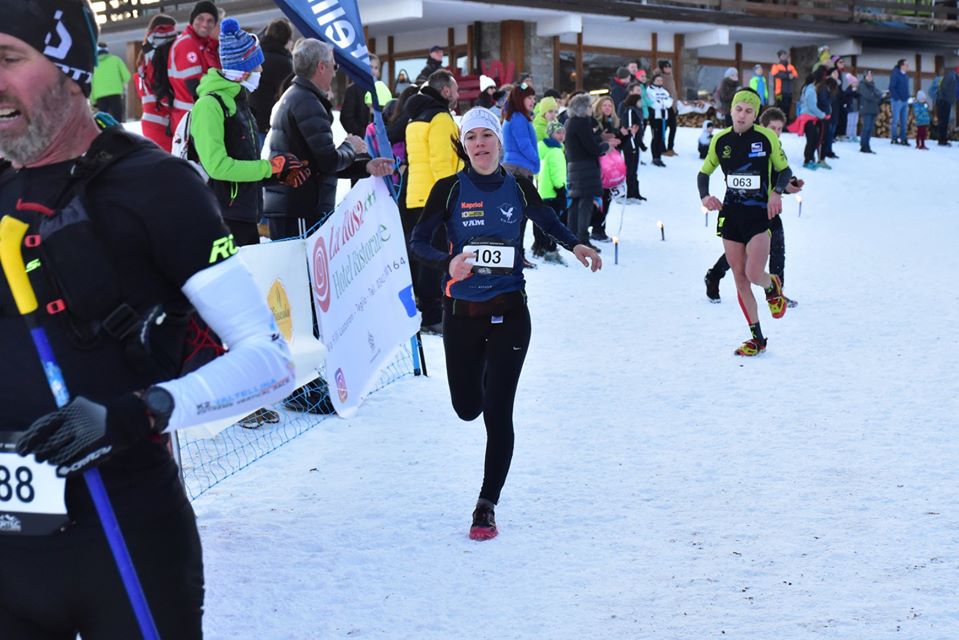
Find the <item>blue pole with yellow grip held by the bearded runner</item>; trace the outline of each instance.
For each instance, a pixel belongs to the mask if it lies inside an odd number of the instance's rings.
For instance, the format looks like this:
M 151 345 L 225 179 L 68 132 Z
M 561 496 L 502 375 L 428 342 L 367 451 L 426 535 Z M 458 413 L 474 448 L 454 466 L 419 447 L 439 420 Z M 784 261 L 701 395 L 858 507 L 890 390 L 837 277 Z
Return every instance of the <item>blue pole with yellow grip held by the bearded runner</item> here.
M 0 263 L 2 263 L 3 274 L 7 279 L 7 284 L 10 285 L 10 291 L 13 293 L 14 301 L 17 304 L 17 310 L 23 316 L 27 328 L 30 330 L 30 337 L 33 338 L 37 355 L 40 356 L 40 364 L 47 376 L 50 391 L 53 393 L 57 407 L 62 407 L 70 402 L 70 394 L 67 391 L 60 366 L 57 364 L 53 350 L 50 348 L 47 334 L 37 320 L 37 297 L 30 285 L 30 278 L 27 276 L 27 269 L 23 263 L 23 254 L 20 251 L 28 228 L 29 225 L 21 220 L 12 216 L 3 216 L 3 219 L 0 220 Z M 150 607 L 147 604 L 146 596 L 143 594 L 143 588 L 140 586 L 140 580 L 137 578 L 133 560 L 130 558 L 130 552 L 123 540 L 120 524 L 113 512 L 113 505 L 110 504 L 110 498 L 107 496 L 106 487 L 103 486 L 100 472 L 97 469 L 88 469 L 83 472 L 83 479 L 86 481 L 87 490 L 93 499 L 100 524 L 103 525 L 103 531 L 106 533 L 107 542 L 113 552 L 113 559 L 123 580 L 130 605 L 133 607 L 133 613 L 136 615 L 137 624 L 140 626 L 140 633 L 144 640 L 160 640 L 160 634 L 157 631 L 156 623 L 153 621 L 153 615 L 150 613 Z

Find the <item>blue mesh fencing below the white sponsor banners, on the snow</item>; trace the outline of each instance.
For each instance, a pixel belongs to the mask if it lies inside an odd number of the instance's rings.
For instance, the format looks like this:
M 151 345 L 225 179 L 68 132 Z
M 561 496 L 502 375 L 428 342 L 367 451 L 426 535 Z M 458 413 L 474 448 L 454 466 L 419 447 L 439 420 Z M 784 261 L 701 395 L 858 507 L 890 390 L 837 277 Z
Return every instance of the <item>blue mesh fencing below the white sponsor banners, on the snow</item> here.
M 413 375 L 410 343 L 399 346 L 380 370 L 372 393 Z M 322 370 L 322 367 L 321 367 Z M 335 392 L 335 390 L 334 390 Z M 271 451 L 335 417 L 325 382 L 309 383 L 268 410 L 232 424 L 213 438 L 178 433 L 180 469 L 190 500 L 223 482 Z

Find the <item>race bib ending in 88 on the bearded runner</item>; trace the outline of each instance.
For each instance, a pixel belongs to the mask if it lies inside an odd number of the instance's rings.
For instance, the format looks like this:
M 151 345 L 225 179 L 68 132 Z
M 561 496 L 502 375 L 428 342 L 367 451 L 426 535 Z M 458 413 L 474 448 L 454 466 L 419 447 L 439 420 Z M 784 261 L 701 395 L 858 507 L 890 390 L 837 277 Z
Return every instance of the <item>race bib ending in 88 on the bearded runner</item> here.
M 66 480 L 56 467 L 15 451 L 17 432 L 0 432 L 0 536 L 56 533 L 69 523 Z

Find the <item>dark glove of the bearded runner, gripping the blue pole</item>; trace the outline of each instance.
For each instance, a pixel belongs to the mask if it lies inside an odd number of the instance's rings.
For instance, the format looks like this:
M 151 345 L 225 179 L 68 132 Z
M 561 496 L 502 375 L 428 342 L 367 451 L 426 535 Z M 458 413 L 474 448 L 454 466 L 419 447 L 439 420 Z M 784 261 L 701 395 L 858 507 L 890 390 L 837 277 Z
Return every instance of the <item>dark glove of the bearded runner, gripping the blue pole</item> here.
M 77 396 L 38 419 L 17 441 L 17 453 L 57 465 L 57 475 L 83 473 L 151 434 L 147 407 L 128 393 L 106 405 Z

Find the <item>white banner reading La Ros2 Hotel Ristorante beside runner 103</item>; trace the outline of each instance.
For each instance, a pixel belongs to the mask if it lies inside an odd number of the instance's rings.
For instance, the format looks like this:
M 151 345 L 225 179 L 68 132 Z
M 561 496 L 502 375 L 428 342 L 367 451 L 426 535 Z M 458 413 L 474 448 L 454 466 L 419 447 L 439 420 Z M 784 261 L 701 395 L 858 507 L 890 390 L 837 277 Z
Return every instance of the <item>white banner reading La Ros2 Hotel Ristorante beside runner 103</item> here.
M 326 380 L 337 414 L 347 418 L 420 326 L 403 226 L 383 180 L 357 182 L 306 243 Z

